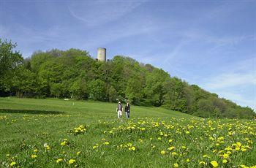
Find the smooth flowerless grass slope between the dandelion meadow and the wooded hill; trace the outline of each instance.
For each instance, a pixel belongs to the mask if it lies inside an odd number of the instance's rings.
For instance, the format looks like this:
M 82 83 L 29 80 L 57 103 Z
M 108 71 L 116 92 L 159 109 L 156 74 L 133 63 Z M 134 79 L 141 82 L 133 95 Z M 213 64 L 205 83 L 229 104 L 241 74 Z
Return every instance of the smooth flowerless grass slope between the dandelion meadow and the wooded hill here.
M 63 99 L 18 99 L 18 98 L 0 98 L 0 112 L 7 112 L 15 115 L 23 114 L 61 114 L 84 116 L 82 120 L 88 122 L 97 121 L 99 118 L 116 118 L 116 105 L 108 102 L 84 102 Z M 178 117 L 192 118 L 182 112 L 167 110 L 162 107 L 139 107 L 132 106 L 132 117 Z M 88 120 L 90 117 L 90 120 Z M 195 118 L 195 117 L 194 117 Z

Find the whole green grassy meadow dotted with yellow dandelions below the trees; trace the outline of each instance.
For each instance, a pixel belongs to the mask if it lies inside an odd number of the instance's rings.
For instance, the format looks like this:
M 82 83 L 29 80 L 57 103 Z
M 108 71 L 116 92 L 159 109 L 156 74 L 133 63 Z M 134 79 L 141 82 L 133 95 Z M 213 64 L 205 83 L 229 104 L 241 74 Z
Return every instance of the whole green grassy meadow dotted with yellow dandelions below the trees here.
M 86 131 L 77 134 L 80 125 Z M 121 121 L 113 103 L 0 98 L 0 165 L 213 167 L 211 161 L 217 161 L 219 167 L 253 166 L 255 129 L 255 121 L 209 120 L 157 107 L 132 106 L 131 118 Z

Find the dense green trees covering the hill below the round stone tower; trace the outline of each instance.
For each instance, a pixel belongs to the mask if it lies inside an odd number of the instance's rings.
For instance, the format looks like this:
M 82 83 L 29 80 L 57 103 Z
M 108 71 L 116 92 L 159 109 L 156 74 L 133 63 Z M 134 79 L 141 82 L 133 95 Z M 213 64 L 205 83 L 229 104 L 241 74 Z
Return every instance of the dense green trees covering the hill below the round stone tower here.
M 189 85 L 150 64 L 115 56 L 99 62 L 85 50 L 37 51 L 23 59 L 0 39 L 0 96 L 93 99 L 166 107 L 204 118 L 254 118 L 255 112 Z

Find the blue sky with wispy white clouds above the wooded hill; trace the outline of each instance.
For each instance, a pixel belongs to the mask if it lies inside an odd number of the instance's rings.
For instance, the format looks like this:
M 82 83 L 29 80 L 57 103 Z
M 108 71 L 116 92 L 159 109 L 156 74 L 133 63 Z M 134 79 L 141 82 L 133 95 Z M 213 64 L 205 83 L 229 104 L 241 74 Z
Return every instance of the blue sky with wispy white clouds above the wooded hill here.
M 256 110 L 256 1 L 0 0 L 0 37 L 36 50 L 107 48 Z

